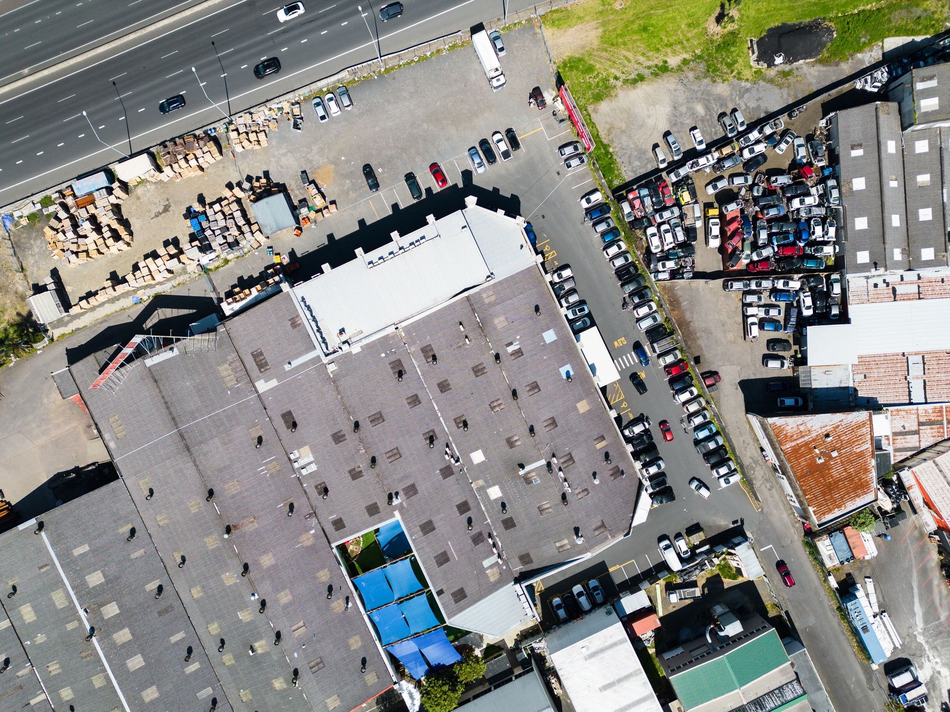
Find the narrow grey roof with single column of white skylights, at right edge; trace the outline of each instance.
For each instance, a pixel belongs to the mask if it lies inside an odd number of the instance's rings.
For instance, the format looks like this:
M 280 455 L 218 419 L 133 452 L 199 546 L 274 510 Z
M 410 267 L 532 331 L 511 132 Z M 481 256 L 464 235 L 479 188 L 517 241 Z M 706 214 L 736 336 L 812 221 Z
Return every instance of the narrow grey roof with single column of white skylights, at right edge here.
M 947 266 L 947 230 L 943 215 L 943 128 L 904 134 L 903 164 L 907 187 L 907 236 L 910 268 Z

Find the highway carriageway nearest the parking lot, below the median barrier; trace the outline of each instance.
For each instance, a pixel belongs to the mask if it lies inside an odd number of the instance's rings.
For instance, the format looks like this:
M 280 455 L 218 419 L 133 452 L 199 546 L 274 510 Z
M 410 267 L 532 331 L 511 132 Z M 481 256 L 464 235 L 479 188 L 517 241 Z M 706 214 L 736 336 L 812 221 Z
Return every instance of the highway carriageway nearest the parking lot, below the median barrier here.
M 35 81 L 0 86 L 0 205 L 371 61 L 377 50 L 385 55 L 469 28 L 503 7 L 486 0 L 404 0 L 403 16 L 383 23 L 384 4 L 305 0 L 306 12 L 281 24 L 279 0 L 205 3 L 182 13 L 180 23 L 80 55 Z M 511 0 L 508 8 L 530 5 Z M 70 24 L 76 19 L 71 9 L 64 17 Z M 253 68 L 267 57 L 279 58 L 282 69 L 258 80 Z M 175 94 L 186 106 L 162 115 L 159 103 Z

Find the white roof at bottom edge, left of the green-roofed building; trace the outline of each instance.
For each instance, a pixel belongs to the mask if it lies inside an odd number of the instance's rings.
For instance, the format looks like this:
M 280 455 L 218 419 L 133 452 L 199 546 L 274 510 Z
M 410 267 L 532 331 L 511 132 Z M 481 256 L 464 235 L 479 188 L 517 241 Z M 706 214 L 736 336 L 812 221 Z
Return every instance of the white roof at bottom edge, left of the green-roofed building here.
M 660 712 L 614 609 L 598 610 L 552 630 L 547 647 L 577 712 Z

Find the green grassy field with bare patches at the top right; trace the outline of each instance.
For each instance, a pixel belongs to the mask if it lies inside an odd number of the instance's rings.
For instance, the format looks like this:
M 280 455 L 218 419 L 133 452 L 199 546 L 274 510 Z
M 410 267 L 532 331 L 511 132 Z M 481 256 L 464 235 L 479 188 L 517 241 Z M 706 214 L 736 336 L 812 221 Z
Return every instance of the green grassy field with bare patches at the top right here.
M 718 16 L 718 22 L 716 18 Z M 588 0 L 543 17 L 561 76 L 584 108 L 632 86 L 685 67 L 710 81 L 782 81 L 788 69 L 750 65 L 748 41 L 782 23 L 825 18 L 835 39 L 819 61 L 846 59 L 885 37 L 926 35 L 950 21 L 950 0 Z M 591 130 L 597 127 L 589 121 Z M 623 182 L 610 147 L 595 151 L 611 185 Z

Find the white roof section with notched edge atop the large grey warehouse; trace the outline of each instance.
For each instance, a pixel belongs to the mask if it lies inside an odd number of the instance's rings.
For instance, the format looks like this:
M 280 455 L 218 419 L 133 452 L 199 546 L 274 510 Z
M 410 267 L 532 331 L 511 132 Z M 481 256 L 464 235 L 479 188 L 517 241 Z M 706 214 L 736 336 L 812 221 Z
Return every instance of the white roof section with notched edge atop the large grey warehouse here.
M 521 222 L 474 203 L 295 287 L 325 356 L 534 265 Z

